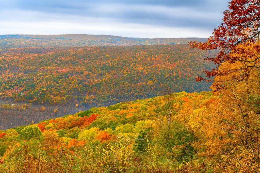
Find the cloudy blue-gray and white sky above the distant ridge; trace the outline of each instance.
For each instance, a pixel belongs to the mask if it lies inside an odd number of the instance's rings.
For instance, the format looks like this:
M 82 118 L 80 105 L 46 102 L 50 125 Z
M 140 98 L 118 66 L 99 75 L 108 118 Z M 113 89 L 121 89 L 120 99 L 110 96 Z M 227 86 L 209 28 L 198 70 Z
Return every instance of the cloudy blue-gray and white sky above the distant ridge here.
M 228 0 L 0 0 L 0 35 L 209 37 Z

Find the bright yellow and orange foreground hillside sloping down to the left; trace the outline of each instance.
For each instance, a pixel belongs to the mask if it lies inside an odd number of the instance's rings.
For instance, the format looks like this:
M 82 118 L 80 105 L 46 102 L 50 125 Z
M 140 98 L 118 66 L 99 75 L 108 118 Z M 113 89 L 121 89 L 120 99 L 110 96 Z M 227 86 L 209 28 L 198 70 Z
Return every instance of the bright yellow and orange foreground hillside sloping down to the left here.
M 235 97 L 183 91 L 2 130 L 0 171 L 253 172 L 254 87 L 236 85 Z

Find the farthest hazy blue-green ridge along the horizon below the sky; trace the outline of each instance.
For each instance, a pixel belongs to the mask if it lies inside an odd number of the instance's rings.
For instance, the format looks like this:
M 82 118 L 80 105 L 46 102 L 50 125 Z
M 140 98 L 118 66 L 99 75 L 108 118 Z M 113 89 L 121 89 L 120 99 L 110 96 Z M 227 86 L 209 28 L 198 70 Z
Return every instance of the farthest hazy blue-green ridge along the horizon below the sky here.
M 187 44 L 206 38 L 128 38 L 111 35 L 0 35 L 0 49 L 26 47 L 127 46 L 148 44 Z

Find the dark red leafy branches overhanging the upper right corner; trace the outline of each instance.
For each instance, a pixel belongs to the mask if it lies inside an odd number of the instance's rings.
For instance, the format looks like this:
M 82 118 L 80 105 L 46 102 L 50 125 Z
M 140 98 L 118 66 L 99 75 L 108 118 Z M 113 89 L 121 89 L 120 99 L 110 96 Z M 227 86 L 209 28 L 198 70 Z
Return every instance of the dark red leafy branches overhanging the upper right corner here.
M 260 68 L 259 57 L 256 53 L 259 48 L 259 9 L 258 0 L 233 0 L 229 3 L 229 10 L 224 11 L 223 23 L 214 30 L 213 35 L 206 42 L 190 42 L 191 47 L 201 50 L 218 50 L 216 56 L 206 58 L 218 65 L 211 71 L 205 70 L 207 77 L 223 76 L 232 74 L 235 81 L 247 80 L 249 73 L 254 68 Z M 250 47 L 251 49 L 248 49 Z M 241 56 L 243 55 L 243 56 Z M 245 56 L 244 56 L 245 55 Z M 239 68 L 222 69 L 222 63 L 243 65 Z M 238 72 L 239 73 L 236 73 Z M 197 81 L 205 79 L 197 77 Z M 216 84 L 217 89 L 221 89 Z

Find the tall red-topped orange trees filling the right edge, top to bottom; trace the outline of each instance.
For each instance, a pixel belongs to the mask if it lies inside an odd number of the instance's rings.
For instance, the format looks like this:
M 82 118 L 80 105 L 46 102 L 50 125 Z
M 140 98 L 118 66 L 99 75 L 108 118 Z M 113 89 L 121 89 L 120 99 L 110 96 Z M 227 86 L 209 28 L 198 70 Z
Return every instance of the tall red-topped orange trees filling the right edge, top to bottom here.
M 192 48 L 218 50 L 216 55 L 206 58 L 217 67 L 204 71 L 208 78 L 196 79 L 213 82 L 212 89 L 222 96 L 219 104 L 214 105 L 218 108 L 210 110 L 212 116 L 208 118 L 217 121 L 210 122 L 213 128 L 206 133 L 221 132 L 214 134 L 214 143 L 221 144 L 219 168 L 228 171 L 259 170 L 259 9 L 259 0 L 232 0 L 229 10 L 224 11 L 223 23 L 212 36 L 203 43 L 190 42 Z M 205 145 L 210 148 L 214 144 Z

